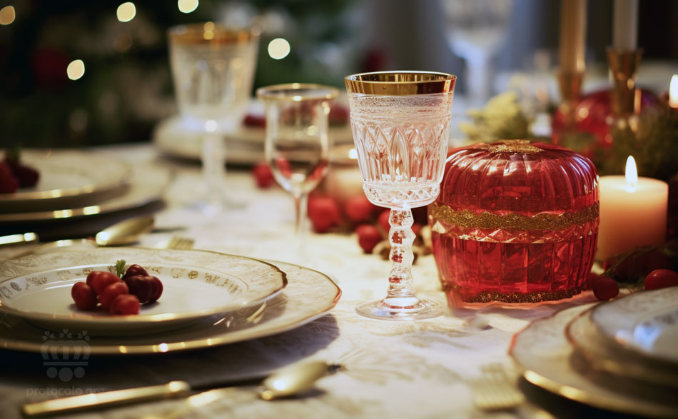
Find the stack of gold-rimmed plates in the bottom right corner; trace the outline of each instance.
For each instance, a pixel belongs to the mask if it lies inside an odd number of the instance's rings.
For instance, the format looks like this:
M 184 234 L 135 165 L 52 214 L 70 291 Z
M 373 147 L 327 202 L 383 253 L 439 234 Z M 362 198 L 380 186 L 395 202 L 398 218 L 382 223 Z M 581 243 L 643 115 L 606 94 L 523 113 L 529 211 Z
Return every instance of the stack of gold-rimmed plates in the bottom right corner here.
M 560 311 L 515 335 L 535 385 L 621 413 L 678 417 L 678 287 Z

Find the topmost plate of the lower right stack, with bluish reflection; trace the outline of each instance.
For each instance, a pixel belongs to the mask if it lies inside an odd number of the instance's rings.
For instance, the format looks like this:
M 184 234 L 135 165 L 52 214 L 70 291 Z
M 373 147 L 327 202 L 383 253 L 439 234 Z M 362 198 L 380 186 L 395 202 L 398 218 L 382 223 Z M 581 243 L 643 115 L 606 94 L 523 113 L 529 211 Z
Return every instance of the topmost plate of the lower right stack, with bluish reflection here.
M 599 333 L 627 350 L 678 366 L 678 286 L 631 293 L 591 311 Z

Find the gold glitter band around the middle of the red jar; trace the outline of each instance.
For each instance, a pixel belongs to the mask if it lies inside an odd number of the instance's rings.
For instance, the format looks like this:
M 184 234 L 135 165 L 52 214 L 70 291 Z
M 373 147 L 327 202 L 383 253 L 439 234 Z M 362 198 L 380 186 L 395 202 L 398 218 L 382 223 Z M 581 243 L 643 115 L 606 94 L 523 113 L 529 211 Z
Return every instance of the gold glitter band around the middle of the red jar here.
M 504 216 L 483 211 L 474 213 L 470 210 L 455 211 L 443 203 L 434 202 L 430 206 L 430 214 L 434 220 L 442 221 L 451 226 L 463 228 L 493 228 L 518 230 L 563 230 L 572 226 L 581 226 L 584 223 L 596 221 L 598 218 L 598 203 L 582 208 L 577 212 L 563 214 L 540 213 L 535 216 L 523 216 L 519 213 L 509 213 Z

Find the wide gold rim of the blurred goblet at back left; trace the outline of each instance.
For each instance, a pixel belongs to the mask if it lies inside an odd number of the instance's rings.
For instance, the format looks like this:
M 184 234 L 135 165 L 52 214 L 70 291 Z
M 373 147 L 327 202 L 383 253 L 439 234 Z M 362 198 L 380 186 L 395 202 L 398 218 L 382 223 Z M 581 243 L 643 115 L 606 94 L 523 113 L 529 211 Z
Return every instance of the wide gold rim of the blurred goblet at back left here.
M 261 30 L 258 26 L 238 28 L 205 22 L 174 26 L 167 34 L 173 44 L 247 44 L 259 39 Z

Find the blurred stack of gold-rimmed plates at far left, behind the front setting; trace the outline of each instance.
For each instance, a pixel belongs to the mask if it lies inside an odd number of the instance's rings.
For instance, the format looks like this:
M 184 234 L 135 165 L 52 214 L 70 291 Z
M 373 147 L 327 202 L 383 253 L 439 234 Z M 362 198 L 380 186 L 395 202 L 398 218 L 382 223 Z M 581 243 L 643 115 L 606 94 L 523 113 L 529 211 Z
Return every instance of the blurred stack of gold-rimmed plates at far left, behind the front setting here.
M 159 168 L 141 171 L 83 151 L 26 150 L 21 161 L 39 171 L 39 182 L 33 188 L 0 193 L 0 226 L 136 208 L 160 200 L 170 178 Z

